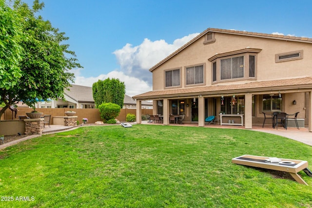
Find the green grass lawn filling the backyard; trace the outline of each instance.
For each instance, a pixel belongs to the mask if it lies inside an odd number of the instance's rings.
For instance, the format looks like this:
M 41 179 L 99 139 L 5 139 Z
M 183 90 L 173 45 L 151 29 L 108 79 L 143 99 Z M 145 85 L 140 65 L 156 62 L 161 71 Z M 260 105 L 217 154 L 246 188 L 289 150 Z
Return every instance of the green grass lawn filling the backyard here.
M 311 177 L 231 162 L 243 154 L 312 163 L 311 146 L 263 132 L 90 126 L 0 151 L 0 207 L 311 208 Z

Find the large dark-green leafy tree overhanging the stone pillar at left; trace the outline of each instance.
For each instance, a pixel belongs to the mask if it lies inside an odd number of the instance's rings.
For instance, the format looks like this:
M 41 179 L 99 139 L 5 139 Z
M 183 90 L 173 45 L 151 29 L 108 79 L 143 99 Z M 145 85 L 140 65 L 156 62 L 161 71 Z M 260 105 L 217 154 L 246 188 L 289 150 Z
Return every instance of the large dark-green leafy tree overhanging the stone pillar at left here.
M 23 48 L 19 61 L 20 79 L 15 86 L 1 89 L 1 101 L 5 107 L 1 114 L 19 101 L 33 105 L 36 100 L 63 98 L 64 90 L 74 81 L 74 74 L 69 70 L 81 68 L 76 55 L 69 51 L 69 45 L 63 44 L 65 33 L 54 28 L 50 21 L 36 16 L 44 4 L 34 0 L 32 9 L 26 3 L 16 0 L 14 12 L 20 15 L 24 37 L 20 41 Z M 2 21 L 2 20 L 0 20 Z

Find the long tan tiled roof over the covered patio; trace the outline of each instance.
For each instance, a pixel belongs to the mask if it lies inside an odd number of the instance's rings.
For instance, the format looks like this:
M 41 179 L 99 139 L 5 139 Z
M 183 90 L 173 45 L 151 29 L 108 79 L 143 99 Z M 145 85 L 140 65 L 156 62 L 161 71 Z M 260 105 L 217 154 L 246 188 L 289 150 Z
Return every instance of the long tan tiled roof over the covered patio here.
M 304 87 L 312 88 L 312 77 L 301 77 L 292 79 L 280 79 L 280 80 L 268 80 L 268 81 L 255 81 L 243 84 L 232 84 L 232 85 L 212 85 L 203 86 L 196 88 L 179 88 L 173 90 L 159 90 L 150 91 L 140 95 L 133 96 L 136 99 L 153 99 L 161 97 L 172 97 L 178 95 L 209 95 L 209 94 L 231 94 L 232 91 L 235 93 L 241 92 L 259 92 L 259 91 L 270 91 L 270 90 L 282 90 L 293 89 L 300 90 Z

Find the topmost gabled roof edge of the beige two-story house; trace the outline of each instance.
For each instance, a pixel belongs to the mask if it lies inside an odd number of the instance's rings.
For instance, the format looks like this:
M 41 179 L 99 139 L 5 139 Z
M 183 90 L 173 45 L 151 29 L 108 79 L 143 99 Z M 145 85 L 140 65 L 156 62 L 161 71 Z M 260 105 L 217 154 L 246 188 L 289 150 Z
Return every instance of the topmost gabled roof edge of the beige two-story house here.
M 280 39 L 280 40 L 287 40 L 287 41 L 296 41 L 296 42 L 306 42 L 306 43 L 312 43 L 312 38 L 303 38 L 303 37 L 295 37 L 295 36 L 283 36 L 283 35 L 273 35 L 273 34 L 266 34 L 266 33 L 254 33 L 254 32 L 247 32 L 247 31 L 238 31 L 238 30 L 226 30 L 226 29 L 217 29 L 217 28 L 208 28 L 204 32 L 200 33 L 198 36 L 193 38 L 191 41 L 183 45 L 181 48 L 176 50 L 174 53 L 166 57 L 165 59 L 161 60 L 159 63 L 157 63 L 155 66 L 153 66 L 150 69 L 150 72 L 152 72 L 154 69 L 165 63 L 170 58 L 176 56 L 179 52 L 184 50 L 186 47 L 191 45 L 193 42 L 198 40 L 199 38 L 203 37 L 209 32 L 215 32 L 215 33 L 225 33 L 225 34 L 233 34 L 233 35 L 240 35 L 240 36 L 250 36 L 250 37 L 257 37 L 257 38 L 271 38 L 271 39 Z

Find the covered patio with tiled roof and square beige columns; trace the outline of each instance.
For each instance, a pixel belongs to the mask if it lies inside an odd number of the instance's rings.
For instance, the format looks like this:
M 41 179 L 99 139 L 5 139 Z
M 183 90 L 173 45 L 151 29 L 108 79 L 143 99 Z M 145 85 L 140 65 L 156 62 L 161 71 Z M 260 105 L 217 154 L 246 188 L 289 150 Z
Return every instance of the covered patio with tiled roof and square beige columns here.
M 274 101 L 269 109 L 265 101 L 268 97 Z M 262 111 L 265 109 L 268 113 L 300 112 L 298 118 L 303 118 L 305 126 L 312 132 L 312 111 L 309 110 L 312 109 L 311 77 L 151 91 L 134 98 L 137 99 L 137 106 L 141 106 L 142 100 L 155 100 L 153 114 L 163 115 L 164 125 L 170 124 L 170 114 L 184 113 L 185 122 L 203 127 L 206 117 L 215 115 L 220 120 L 219 113 L 225 111 L 227 115 L 243 117 L 242 127 L 234 128 L 253 129 L 254 125 L 262 125 Z M 137 123 L 141 123 L 141 112 L 138 110 Z

